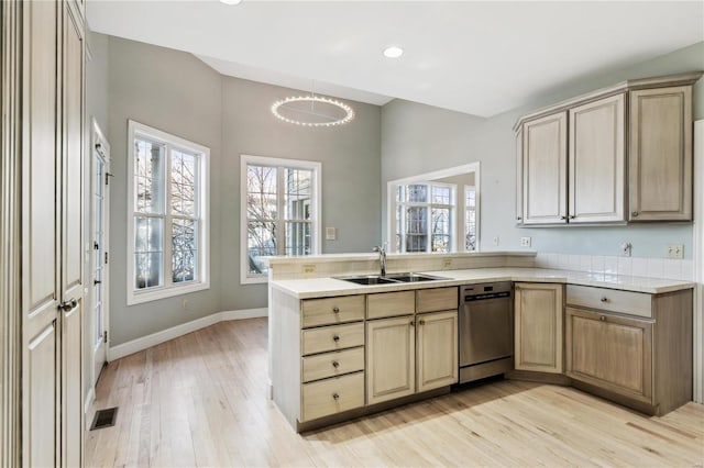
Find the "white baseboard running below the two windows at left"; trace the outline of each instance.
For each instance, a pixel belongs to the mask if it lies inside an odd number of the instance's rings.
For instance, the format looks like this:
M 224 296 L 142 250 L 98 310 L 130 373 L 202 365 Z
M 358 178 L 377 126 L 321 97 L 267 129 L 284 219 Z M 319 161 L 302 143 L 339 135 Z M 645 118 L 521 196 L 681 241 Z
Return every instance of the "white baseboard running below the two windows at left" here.
M 161 332 L 152 333 L 151 335 L 132 339 L 131 342 L 111 346 L 108 348 L 108 360 L 120 359 L 121 357 L 139 353 L 148 347 L 156 346 L 164 342 L 168 342 L 169 339 L 183 336 L 187 333 L 205 328 L 206 326 L 213 325 L 218 322 L 223 322 L 227 320 L 255 319 L 267 315 L 267 308 L 217 312 L 201 319 L 196 319 L 190 322 L 182 323 L 180 325 L 172 326 L 170 328 L 162 330 Z

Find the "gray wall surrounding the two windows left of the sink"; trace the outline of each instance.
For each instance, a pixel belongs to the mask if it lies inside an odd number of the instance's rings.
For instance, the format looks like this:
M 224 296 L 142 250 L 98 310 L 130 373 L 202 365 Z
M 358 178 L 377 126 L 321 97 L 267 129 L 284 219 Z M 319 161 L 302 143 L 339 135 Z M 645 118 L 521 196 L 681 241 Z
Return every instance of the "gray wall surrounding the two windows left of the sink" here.
M 190 54 L 108 41 L 108 135 L 114 174 L 110 214 L 111 345 L 215 312 L 266 307 L 265 285 L 240 285 L 240 154 L 322 163 L 323 253 L 367 252 L 381 238 L 381 108 L 352 103 L 333 129 L 280 123 L 271 104 L 285 88 L 222 77 Z M 210 289 L 127 305 L 128 119 L 210 148 Z M 184 299 L 188 300 L 184 308 Z

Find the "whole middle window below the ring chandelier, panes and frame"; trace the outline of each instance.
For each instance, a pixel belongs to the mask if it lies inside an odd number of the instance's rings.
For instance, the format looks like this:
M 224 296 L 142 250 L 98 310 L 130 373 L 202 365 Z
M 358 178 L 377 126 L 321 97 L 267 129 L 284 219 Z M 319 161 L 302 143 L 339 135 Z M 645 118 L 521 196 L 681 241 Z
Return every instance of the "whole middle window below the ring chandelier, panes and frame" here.
M 320 252 L 320 163 L 242 155 L 241 282 L 265 282 L 266 257 Z

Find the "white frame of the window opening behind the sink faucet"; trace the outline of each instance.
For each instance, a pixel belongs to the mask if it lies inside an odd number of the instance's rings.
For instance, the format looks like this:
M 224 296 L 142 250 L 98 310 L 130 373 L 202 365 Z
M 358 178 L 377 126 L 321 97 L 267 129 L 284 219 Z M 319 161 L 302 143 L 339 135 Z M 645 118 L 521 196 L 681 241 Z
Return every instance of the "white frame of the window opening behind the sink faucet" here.
M 476 249 L 470 252 L 480 252 L 481 250 L 481 242 L 480 234 L 482 232 L 482 222 L 481 222 L 481 198 L 482 191 L 480 186 L 480 161 L 465 164 L 462 166 L 450 167 L 448 169 L 436 170 L 432 172 L 421 174 L 418 176 L 406 177 L 403 179 L 389 180 L 386 183 L 386 244 L 388 246 L 388 252 L 396 252 L 396 187 L 399 185 L 408 185 L 408 183 L 436 183 L 433 180 L 444 179 L 452 176 L 459 176 L 462 174 L 474 172 L 474 191 L 475 191 L 475 219 L 476 219 Z M 468 252 L 465 249 L 464 238 L 466 237 L 466 232 L 464 229 L 464 187 L 458 187 L 455 190 L 455 230 L 453 234 L 453 239 L 451 244 L 453 245 L 453 249 L 451 252 Z M 430 214 L 428 214 L 430 215 Z M 430 219 L 428 220 L 430 222 Z M 430 245 L 430 239 L 428 241 Z M 429 252 L 430 254 L 441 254 L 439 252 Z M 414 253 L 410 253 L 414 254 Z

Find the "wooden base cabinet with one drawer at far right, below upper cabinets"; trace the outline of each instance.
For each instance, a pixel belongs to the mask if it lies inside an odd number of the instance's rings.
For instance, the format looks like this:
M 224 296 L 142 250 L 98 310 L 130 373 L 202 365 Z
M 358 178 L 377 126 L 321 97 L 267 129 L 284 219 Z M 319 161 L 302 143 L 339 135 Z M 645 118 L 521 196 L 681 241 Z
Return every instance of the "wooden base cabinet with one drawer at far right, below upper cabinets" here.
M 565 374 L 576 386 L 662 415 L 692 399 L 692 290 L 568 285 Z

